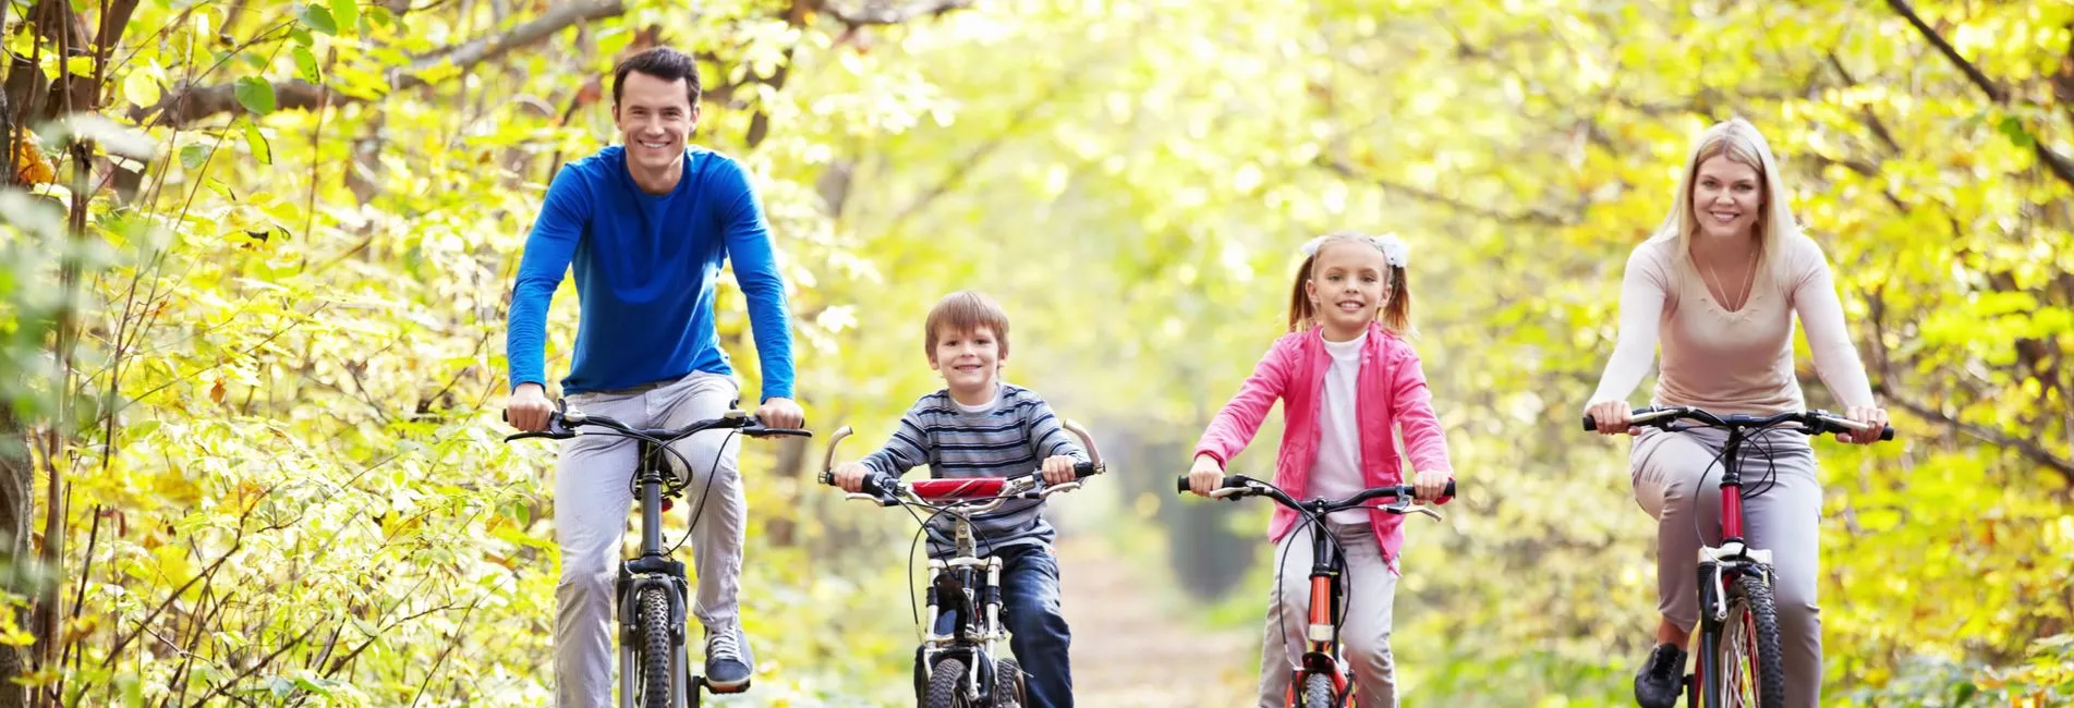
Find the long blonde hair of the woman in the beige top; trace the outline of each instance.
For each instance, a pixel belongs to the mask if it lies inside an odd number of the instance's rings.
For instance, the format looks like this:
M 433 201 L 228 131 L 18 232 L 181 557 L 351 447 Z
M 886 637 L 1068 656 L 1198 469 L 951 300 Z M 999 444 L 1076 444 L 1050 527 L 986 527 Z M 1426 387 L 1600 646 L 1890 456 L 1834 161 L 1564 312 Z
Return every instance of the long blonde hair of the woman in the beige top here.
M 1730 118 L 1699 135 L 1699 141 L 1692 145 L 1692 157 L 1686 159 L 1684 176 L 1678 178 L 1678 199 L 1672 203 L 1672 213 L 1663 219 L 1663 226 L 1657 228 L 1657 238 L 1676 238 L 1676 267 L 1682 275 L 1697 277 L 1694 271 L 1699 267 L 1692 263 L 1692 236 L 1699 234 L 1699 213 L 1692 211 L 1692 188 L 1699 182 L 1699 166 L 1717 155 L 1757 170 L 1757 188 L 1765 195 L 1765 205 L 1759 209 L 1753 228 L 1759 261 L 1763 263 L 1759 271 L 1771 273 L 1773 282 L 1777 282 L 1782 275 L 1779 269 L 1786 265 L 1786 242 L 1800 236 L 1800 222 L 1794 219 L 1792 205 L 1788 203 L 1792 195 L 1786 190 L 1786 180 L 1779 178 L 1777 159 L 1771 157 L 1771 143 L 1748 120 Z

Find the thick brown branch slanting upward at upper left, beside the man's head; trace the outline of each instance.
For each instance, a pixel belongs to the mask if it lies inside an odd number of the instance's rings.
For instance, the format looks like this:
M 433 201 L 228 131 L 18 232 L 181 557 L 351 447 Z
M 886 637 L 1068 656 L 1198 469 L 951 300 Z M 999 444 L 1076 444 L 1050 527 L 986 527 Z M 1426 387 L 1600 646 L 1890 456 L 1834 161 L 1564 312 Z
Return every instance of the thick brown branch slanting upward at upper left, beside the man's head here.
M 626 4 L 620 0 L 591 0 L 591 2 L 570 2 L 548 10 L 545 14 L 521 23 L 502 35 L 479 37 L 473 41 L 456 43 L 413 60 L 409 66 L 396 66 L 390 70 L 390 91 L 404 91 L 427 85 L 423 72 L 427 68 L 452 62 L 458 68 L 469 68 L 485 60 L 504 56 L 516 48 L 539 43 L 554 33 L 568 29 L 577 23 L 597 21 L 606 17 L 624 14 Z M 209 87 L 189 87 L 174 95 L 168 95 L 158 104 L 158 108 L 139 108 L 131 118 L 141 120 L 151 110 L 164 110 L 160 118 L 166 124 L 185 126 L 189 122 L 209 118 L 224 112 L 243 110 L 236 101 L 234 85 L 209 85 Z M 274 106 L 276 110 L 311 110 L 330 99 L 332 106 L 363 101 L 363 97 L 342 95 L 338 91 L 313 85 L 309 81 L 290 79 L 274 83 Z

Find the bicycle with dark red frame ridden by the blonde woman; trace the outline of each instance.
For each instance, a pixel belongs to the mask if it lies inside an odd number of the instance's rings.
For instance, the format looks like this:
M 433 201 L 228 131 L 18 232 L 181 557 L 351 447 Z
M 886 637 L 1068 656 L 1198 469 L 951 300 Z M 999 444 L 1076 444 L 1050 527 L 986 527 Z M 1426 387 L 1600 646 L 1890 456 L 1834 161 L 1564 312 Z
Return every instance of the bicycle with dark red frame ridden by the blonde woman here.
M 1678 424 L 1694 420 L 1699 424 Z M 1692 673 L 1684 677 L 1686 706 L 1701 708 L 1782 708 L 1786 706 L 1786 658 L 1779 650 L 1779 617 L 1771 598 L 1771 551 L 1750 549 L 1742 538 L 1742 445 L 1765 431 L 1794 431 L 1809 437 L 1825 433 L 1865 431 L 1827 410 L 1782 412 L 1773 416 L 1715 416 L 1692 406 L 1636 408 L 1628 420 L 1665 433 L 1694 426 L 1728 429 L 1721 443 L 1721 542 L 1699 549 L 1699 648 Z M 1800 426 L 1784 426 L 1798 422 Z M 1585 414 L 1585 431 L 1599 431 Z M 1879 431 L 1881 441 L 1894 439 L 1894 426 Z M 1705 474 L 1701 478 L 1705 482 Z M 1723 665 L 1728 665 L 1723 669 Z

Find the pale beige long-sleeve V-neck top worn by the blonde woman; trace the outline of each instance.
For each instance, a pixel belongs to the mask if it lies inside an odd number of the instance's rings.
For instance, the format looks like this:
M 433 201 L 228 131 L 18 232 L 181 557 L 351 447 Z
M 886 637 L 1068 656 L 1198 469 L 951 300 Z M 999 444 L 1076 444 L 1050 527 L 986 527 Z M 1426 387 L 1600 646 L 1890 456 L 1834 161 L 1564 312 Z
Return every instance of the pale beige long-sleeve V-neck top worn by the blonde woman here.
M 1593 402 L 1626 400 L 1649 375 L 1661 335 L 1663 373 L 1655 406 L 1699 406 L 1723 414 L 1802 410 L 1806 402 L 1794 377 L 1794 315 L 1800 315 L 1823 385 L 1844 406 L 1873 406 L 1858 350 L 1844 331 L 1844 306 L 1835 298 L 1829 263 L 1815 240 L 1788 238 L 1777 275 L 1759 269 L 1750 296 L 1734 313 L 1713 300 L 1705 279 L 1680 277 L 1678 257 L 1676 236 L 1649 238 L 1628 257 L 1620 286 L 1620 342 Z

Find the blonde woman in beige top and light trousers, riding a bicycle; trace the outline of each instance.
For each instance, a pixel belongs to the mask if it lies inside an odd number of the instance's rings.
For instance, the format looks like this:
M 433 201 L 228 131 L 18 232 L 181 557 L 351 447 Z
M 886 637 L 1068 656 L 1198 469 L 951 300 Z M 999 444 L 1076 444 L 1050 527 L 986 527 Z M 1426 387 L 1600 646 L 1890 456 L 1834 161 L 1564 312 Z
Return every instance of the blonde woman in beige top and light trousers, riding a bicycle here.
M 1699 406 L 1715 414 L 1775 414 L 1806 408 L 1794 379 L 1794 317 L 1806 331 L 1815 373 L 1846 408 L 1871 424 L 1846 441 L 1873 443 L 1887 412 L 1873 402 L 1865 366 L 1844 327 L 1829 263 L 1788 209 L 1771 147 L 1746 120 L 1701 132 L 1678 182 L 1678 199 L 1655 236 L 1628 257 L 1620 288 L 1620 337 L 1587 414 L 1599 433 L 1634 433 L 1628 470 L 1634 501 L 1657 520 L 1657 646 L 1636 671 L 1634 700 L 1672 708 L 1684 675 L 1684 646 L 1699 621 L 1697 555 L 1719 530 L 1717 429 L 1663 433 L 1632 429 L 1628 393 L 1663 346 L 1655 406 Z M 1821 482 L 1804 435 L 1763 435 L 1744 447 L 1744 470 L 1775 474 L 1744 486 L 1746 538 L 1771 549 L 1786 704 L 1821 702 L 1821 617 L 1817 532 Z M 1699 518 L 1694 518 L 1699 515 Z

